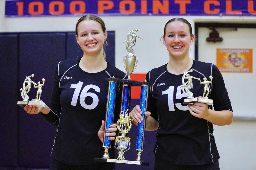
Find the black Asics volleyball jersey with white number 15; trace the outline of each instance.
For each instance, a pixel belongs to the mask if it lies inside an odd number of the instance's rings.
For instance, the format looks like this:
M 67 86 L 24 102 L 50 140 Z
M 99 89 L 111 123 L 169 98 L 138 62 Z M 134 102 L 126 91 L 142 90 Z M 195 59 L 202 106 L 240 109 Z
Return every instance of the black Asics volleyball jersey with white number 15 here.
M 187 98 L 182 92 L 182 76 L 167 71 L 167 64 L 149 71 L 147 81 L 152 84 L 148 99 L 148 111 L 159 122 L 157 143 L 154 148 L 156 160 L 177 165 L 204 165 L 219 159 L 216 148 L 213 125 L 205 119 L 190 114 Z M 207 78 L 209 83 L 209 99 L 213 99 L 215 110 L 231 110 L 231 103 L 221 73 L 212 63 L 194 61 L 191 67 L 193 77 Z M 186 82 L 186 79 L 185 79 Z M 190 90 L 194 97 L 203 96 L 204 85 L 193 79 Z M 212 109 L 212 106 L 209 106 Z

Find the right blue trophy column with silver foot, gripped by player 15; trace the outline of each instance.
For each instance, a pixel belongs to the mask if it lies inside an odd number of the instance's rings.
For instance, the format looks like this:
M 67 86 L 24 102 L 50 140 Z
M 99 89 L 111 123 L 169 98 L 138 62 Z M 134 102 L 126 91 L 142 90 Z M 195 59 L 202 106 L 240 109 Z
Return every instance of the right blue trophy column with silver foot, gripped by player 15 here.
M 145 130 L 146 130 L 146 122 L 147 117 L 145 116 L 145 111 L 147 110 L 148 105 L 148 85 L 142 85 L 141 91 L 140 91 L 140 109 L 141 109 L 141 116 L 143 118 L 143 121 L 138 124 L 138 132 L 137 132 L 137 144 L 136 144 L 136 151 L 138 151 L 138 156 L 136 161 L 140 160 L 140 153 L 143 151 L 144 147 L 144 137 L 145 137 Z

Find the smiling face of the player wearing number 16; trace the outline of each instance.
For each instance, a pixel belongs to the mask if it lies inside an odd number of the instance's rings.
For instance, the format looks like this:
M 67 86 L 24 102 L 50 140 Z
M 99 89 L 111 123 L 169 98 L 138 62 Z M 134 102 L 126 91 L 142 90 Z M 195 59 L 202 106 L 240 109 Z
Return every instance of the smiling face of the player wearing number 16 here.
M 103 32 L 100 23 L 94 20 L 84 20 L 77 26 L 76 42 L 84 51 L 84 56 L 103 56 L 103 44 L 107 32 Z

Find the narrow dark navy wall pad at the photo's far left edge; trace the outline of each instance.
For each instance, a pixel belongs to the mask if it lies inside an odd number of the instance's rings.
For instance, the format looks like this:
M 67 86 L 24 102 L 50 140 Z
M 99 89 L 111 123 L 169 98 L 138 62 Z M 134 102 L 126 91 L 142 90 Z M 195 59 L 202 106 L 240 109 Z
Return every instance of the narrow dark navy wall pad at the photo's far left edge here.
M 0 165 L 18 165 L 18 36 L 0 35 Z

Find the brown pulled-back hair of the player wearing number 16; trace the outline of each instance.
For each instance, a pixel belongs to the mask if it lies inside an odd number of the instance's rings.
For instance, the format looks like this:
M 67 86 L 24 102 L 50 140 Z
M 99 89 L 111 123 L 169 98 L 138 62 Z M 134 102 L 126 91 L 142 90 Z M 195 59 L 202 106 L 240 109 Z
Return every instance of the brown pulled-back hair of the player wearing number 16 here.
M 96 15 L 92 15 L 92 14 L 88 14 L 88 15 L 84 15 L 82 16 L 77 22 L 76 22 L 76 36 L 78 36 L 78 32 L 77 32 L 77 27 L 79 25 L 80 22 L 84 21 L 84 20 L 93 20 L 93 21 L 96 21 L 98 22 L 100 25 L 101 25 L 101 29 L 103 31 L 103 33 L 106 31 L 106 26 L 105 26 L 105 23 L 104 21 L 96 16 Z M 107 41 L 105 40 L 104 41 L 104 45 L 103 45 L 103 57 L 104 59 L 106 60 L 106 53 L 105 53 L 105 46 L 107 45 Z

